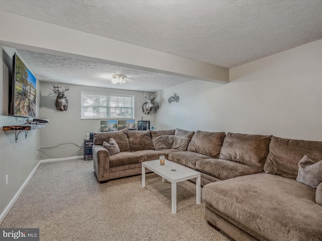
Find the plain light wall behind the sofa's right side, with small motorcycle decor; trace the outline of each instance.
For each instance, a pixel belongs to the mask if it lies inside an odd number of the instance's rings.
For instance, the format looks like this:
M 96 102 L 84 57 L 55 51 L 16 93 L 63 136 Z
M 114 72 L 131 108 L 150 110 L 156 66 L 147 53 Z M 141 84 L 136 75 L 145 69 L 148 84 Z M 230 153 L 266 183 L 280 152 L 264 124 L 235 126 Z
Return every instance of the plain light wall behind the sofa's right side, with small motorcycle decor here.
M 231 68 L 227 84 L 194 80 L 165 89 L 155 125 L 322 141 L 321 66 L 318 40 Z M 180 101 L 169 104 L 173 93 Z

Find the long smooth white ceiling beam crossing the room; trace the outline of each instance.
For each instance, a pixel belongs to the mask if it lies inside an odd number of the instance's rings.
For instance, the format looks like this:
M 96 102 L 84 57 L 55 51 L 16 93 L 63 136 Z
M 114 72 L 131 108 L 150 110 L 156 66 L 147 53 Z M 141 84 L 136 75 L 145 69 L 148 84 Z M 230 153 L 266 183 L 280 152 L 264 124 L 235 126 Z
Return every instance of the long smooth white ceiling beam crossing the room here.
M 217 83 L 229 69 L 0 11 L 0 44 Z

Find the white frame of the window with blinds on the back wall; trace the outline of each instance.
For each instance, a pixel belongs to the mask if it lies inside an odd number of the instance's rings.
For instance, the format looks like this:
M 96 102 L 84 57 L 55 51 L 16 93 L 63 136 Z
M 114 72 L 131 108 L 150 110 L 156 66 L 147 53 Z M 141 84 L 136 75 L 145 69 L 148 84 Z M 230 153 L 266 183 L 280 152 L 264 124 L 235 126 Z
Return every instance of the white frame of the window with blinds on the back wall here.
M 84 99 L 86 94 L 91 94 L 91 95 L 96 95 L 96 96 L 104 96 L 107 99 L 110 97 L 124 97 L 124 98 L 131 98 L 131 104 L 132 106 L 108 106 L 108 105 L 90 105 L 90 104 L 86 104 L 86 100 Z M 108 103 L 109 100 L 106 100 L 106 102 Z M 81 91 L 81 119 L 134 119 L 134 95 L 126 95 L 126 94 L 111 94 L 111 93 L 99 93 L 99 92 L 88 92 L 88 91 Z M 102 113 L 106 113 L 106 116 L 94 116 L 95 113 L 94 111 L 92 112 L 93 114 L 91 116 L 85 116 L 86 114 L 84 113 L 84 109 L 85 107 L 92 107 L 92 108 L 100 108 L 99 112 L 101 111 L 101 108 L 104 110 L 104 108 L 106 108 L 106 112 L 102 112 Z M 109 108 L 131 108 L 132 113 L 131 113 L 131 117 L 124 117 L 124 116 L 109 116 Z

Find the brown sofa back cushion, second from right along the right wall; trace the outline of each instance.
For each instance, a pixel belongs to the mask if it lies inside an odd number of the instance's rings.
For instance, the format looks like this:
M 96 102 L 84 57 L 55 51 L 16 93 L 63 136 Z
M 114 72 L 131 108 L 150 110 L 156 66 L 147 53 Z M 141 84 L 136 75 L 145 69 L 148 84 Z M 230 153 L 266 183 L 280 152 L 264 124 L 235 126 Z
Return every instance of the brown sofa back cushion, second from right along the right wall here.
M 227 133 L 219 159 L 263 170 L 272 136 Z

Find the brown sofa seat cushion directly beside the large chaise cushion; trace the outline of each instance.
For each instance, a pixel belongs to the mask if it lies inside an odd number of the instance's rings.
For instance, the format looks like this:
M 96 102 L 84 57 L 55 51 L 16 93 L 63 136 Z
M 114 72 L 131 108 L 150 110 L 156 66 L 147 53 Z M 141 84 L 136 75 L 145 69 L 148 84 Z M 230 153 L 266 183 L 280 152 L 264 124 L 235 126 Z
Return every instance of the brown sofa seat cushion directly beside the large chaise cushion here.
M 196 169 L 221 180 L 263 172 L 258 168 L 222 159 L 198 160 Z

